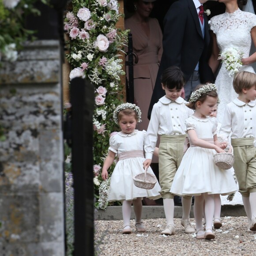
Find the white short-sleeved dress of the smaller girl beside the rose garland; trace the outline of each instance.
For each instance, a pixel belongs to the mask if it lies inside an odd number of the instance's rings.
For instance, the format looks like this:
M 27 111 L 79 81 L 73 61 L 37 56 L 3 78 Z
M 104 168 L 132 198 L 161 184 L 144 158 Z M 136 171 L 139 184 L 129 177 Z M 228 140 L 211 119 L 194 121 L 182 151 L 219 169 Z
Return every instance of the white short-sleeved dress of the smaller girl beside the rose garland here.
M 143 151 L 144 139 L 146 131 L 134 130 L 130 134 L 118 132 L 116 135 L 110 137 L 109 150 L 116 154 L 127 151 Z M 133 200 L 137 197 L 148 197 L 150 199 L 158 199 L 161 197 L 159 191 L 161 190 L 157 182 L 152 189 L 138 188 L 133 184 L 133 177 L 139 173 L 144 173 L 143 162 L 144 157 L 133 157 L 119 160 L 113 170 L 110 180 L 109 202 Z M 151 168 L 148 168 L 148 173 L 154 175 Z

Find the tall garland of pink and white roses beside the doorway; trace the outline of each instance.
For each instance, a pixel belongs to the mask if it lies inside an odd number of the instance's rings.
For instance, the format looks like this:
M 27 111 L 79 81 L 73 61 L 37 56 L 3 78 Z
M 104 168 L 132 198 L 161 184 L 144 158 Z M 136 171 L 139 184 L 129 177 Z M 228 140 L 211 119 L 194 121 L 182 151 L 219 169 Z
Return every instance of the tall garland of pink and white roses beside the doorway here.
M 120 52 L 127 42 L 128 30 L 117 29 L 116 23 L 123 16 L 117 0 L 72 0 L 72 11 L 67 11 L 64 30 L 70 40 L 66 58 L 71 65 L 70 79 L 82 77 L 95 86 L 94 128 L 94 190 L 98 199 L 102 178 L 100 175 L 109 137 L 117 130 L 113 110 L 121 102 L 124 75 Z M 109 168 L 109 177 L 113 166 Z M 107 201 L 106 201 L 107 202 Z M 96 207 L 103 204 L 95 203 Z

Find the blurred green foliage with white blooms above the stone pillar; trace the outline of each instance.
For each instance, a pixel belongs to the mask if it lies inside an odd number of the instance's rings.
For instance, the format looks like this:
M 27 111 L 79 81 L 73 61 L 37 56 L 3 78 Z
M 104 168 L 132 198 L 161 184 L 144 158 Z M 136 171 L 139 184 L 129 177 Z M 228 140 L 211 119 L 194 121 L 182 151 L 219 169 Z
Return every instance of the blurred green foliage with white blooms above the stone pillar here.
M 34 8 L 37 0 L 0 0 L 0 61 L 14 62 L 23 42 L 34 31 L 26 30 L 25 17 L 30 13 L 40 15 Z M 41 0 L 47 4 L 49 0 Z

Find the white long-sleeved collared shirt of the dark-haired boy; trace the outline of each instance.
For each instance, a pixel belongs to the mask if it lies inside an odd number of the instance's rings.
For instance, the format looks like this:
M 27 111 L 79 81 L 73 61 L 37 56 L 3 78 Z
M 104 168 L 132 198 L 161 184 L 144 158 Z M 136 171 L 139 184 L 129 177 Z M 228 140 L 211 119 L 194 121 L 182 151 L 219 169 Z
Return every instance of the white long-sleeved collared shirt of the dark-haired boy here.
M 146 159 L 152 159 L 158 134 L 185 134 L 185 119 L 194 113 L 186 103 L 188 102 L 181 97 L 172 101 L 163 96 L 154 104 L 144 143 Z

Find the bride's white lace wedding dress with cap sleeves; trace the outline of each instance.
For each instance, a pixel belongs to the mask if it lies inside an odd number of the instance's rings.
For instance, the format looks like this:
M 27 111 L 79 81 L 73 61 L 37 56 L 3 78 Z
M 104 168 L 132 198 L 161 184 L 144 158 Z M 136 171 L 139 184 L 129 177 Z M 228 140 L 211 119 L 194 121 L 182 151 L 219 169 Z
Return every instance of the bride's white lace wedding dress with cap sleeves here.
M 256 15 L 240 9 L 233 13 L 225 12 L 214 16 L 210 21 L 210 29 L 216 34 L 220 52 L 233 45 L 244 53 L 244 58 L 250 53 L 251 29 L 254 26 L 256 26 Z M 241 70 L 255 73 L 250 65 L 241 67 Z M 233 77 L 228 75 L 224 65 L 220 68 L 215 84 L 220 100 L 217 118 L 219 122 L 222 122 L 226 105 L 237 97 L 233 89 Z

